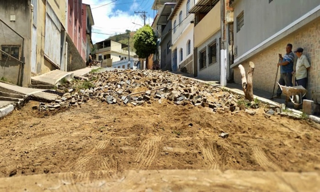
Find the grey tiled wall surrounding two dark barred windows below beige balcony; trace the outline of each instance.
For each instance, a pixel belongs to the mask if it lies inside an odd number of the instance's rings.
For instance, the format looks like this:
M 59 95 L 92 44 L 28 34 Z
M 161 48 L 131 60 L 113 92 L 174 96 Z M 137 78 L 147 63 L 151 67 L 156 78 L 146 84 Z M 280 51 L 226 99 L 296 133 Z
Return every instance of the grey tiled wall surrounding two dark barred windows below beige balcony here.
M 212 35 L 208 38 L 203 44 L 198 47 L 198 78 L 202 78 L 205 80 L 213 80 L 219 81 L 220 80 L 220 31 Z M 208 64 L 209 58 L 209 47 L 214 40 L 216 40 L 216 49 L 217 49 L 217 62 L 213 64 Z M 206 66 L 203 69 L 200 69 L 200 52 L 206 47 Z

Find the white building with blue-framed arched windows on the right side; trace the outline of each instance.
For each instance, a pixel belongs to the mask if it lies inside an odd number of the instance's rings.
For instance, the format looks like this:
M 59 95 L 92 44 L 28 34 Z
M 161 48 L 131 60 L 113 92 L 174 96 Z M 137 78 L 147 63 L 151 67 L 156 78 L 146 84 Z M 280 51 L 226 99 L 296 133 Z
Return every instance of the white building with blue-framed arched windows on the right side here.
M 193 0 L 179 0 L 172 10 L 169 20 L 172 20 L 172 71 L 185 68 L 193 74 L 193 42 L 194 14 L 189 10 L 194 6 Z

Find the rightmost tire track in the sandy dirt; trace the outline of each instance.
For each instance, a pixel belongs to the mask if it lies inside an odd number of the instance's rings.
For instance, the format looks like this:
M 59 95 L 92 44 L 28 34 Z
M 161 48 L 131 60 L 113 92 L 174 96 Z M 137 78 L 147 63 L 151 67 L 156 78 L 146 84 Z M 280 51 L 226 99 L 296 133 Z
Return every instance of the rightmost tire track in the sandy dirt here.
M 265 171 L 282 171 L 278 165 L 268 158 L 267 154 L 260 147 L 254 146 L 252 150 L 255 160 Z

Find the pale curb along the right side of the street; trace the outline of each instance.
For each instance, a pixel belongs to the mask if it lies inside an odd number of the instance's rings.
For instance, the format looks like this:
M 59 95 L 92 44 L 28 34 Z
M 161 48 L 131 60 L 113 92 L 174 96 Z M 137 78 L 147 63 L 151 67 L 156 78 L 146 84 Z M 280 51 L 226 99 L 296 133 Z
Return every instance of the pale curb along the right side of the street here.
M 171 74 L 173 74 L 173 75 L 180 75 L 180 74 L 175 74 L 175 73 L 172 73 L 172 72 L 169 72 L 169 73 L 171 73 Z M 180 76 L 183 76 L 183 75 L 180 75 Z M 221 86 L 221 85 L 219 85 L 219 84 L 210 84 L 210 83 L 205 82 L 205 81 L 203 81 L 203 80 L 195 79 L 195 78 L 192 78 L 192 77 L 186 77 L 186 76 L 183 76 L 183 77 L 184 77 L 184 78 L 188 78 L 188 79 L 192 79 L 192 80 L 194 80 L 194 81 L 198 81 L 198 82 L 203 83 L 203 84 L 211 85 L 211 86 L 213 86 L 213 87 L 217 87 L 217 88 L 219 88 L 219 89 L 221 89 L 221 90 L 226 90 L 226 91 L 231 92 L 231 93 L 236 94 L 236 95 L 244 96 L 244 93 L 243 93 L 242 91 L 235 91 L 235 90 L 232 90 L 232 89 L 230 89 L 230 88 L 228 88 L 228 87 L 223 87 L 223 86 Z M 281 104 L 280 104 L 280 103 L 273 102 L 273 101 L 270 101 L 270 100 L 268 100 L 268 99 L 266 99 L 266 98 L 259 97 L 259 96 L 256 96 L 256 95 L 253 95 L 253 96 L 254 96 L 254 98 L 257 98 L 257 99 L 258 99 L 261 103 L 263 103 L 263 104 L 281 107 Z M 301 111 L 298 111 L 298 110 L 295 110 L 295 109 L 291 109 L 291 108 L 288 108 L 288 110 L 291 111 L 292 113 L 297 114 L 297 115 L 302 115 L 302 112 L 301 112 Z M 308 117 L 309 120 L 311 120 L 311 121 L 313 121 L 313 122 L 315 122 L 315 123 L 320 124 L 320 118 L 319 118 L 319 117 L 314 116 L 314 115 L 307 115 L 307 117 Z

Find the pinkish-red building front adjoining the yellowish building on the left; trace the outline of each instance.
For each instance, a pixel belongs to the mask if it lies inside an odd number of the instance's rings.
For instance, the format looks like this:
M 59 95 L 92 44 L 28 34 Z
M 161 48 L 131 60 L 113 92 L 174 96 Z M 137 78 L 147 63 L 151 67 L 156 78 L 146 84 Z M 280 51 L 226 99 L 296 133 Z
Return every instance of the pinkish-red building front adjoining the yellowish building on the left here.
M 82 0 L 68 0 L 68 35 L 85 61 L 82 33 Z

